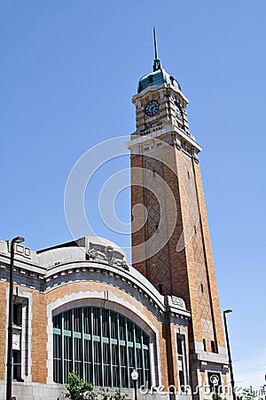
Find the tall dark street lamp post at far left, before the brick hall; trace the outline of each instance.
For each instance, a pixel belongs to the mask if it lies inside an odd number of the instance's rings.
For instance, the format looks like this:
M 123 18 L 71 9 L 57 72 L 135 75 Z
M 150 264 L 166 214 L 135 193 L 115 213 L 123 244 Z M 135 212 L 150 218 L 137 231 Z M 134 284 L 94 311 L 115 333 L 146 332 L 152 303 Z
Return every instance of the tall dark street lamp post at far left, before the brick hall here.
M 9 302 L 8 302 L 8 328 L 7 328 L 7 371 L 6 371 L 6 400 L 12 398 L 12 323 L 13 323 L 13 268 L 15 244 L 24 242 L 24 237 L 17 236 L 12 239 L 10 250 L 9 268 Z

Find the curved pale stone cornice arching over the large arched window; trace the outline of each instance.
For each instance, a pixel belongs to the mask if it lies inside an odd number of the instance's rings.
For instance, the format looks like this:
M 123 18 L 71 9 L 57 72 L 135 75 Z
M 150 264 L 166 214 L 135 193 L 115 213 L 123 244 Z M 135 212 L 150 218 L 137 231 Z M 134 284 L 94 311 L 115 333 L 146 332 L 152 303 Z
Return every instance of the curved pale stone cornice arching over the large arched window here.
M 85 253 L 85 249 L 83 250 Z M 2 281 L 8 281 L 8 257 L 1 255 L 0 265 L 0 278 Z M 107 260 L 59 260 L 44 272 L 44 268 L 30 265 L 24 260 L 14 261 L 14 283 L 39 292 L 47 293 L 64 284 L 89 281 L 110 284 L 129 292 L 137 300 L 142 299 L 146 307 L 153 308 L 153 313 L 161 318 L 171 316 L 172 323 L 176 318 L 187 320 L 191 316 L 183 299 L 161 295 L 145 276 L 128 265 L 113 265 Z

